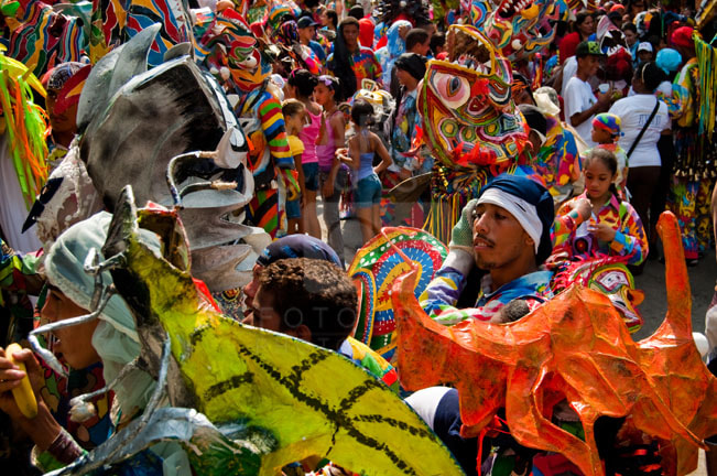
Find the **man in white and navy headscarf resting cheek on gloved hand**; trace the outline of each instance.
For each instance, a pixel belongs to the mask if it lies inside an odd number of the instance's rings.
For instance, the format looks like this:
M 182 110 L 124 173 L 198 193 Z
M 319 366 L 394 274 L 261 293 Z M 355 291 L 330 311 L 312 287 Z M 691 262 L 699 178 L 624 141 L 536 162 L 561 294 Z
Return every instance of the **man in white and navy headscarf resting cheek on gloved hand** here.
M 553 218 L 542 185 L 497 176 L 464 207 L 450 252 L 421 295 L 424 311 L 445 325 L 468 317 L 509 322 L 551 298 L 552 272 L 539 267 L 552 251 Z

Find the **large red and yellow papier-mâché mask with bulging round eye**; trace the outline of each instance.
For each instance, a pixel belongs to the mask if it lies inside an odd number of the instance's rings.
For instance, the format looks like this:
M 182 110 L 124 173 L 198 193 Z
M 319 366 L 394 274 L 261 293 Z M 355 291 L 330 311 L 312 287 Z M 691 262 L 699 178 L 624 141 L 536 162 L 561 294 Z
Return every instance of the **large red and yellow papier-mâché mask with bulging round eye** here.
M 450 25 L 449 61 L 432 61 L 419 94 L 425 138 L 445 165 L 507 162 L 523 149 L 510 63 L 474 26 Z M 479 149 L 476 149 L 476 148 Z

